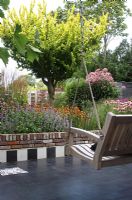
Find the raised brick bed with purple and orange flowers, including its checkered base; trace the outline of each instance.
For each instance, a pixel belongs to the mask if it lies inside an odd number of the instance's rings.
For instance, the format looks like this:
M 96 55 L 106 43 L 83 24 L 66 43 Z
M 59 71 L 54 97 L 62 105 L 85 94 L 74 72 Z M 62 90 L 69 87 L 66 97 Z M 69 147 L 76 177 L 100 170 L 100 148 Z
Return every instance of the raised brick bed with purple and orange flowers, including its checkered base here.
M 85 115 L 78 108 L 55 109 L 49 105 L 23 105 L 0 101 L 0 162 L 65 156 L 69 118 L 80 122 Z M 12 133 L 12 134 L 10 134 Z M 75 135 L 74 142 L 87 137 Z

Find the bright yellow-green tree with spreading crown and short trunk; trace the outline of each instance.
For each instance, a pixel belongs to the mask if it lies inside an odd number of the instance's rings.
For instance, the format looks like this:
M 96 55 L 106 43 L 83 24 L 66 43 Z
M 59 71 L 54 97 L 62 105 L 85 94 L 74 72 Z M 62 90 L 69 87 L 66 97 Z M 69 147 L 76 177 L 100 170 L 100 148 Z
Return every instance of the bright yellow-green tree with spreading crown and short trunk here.
M 80 65 L 80 15 L 74 10 L 67 13 L 65 22 L 58 22 L 57 12 L 47 14 L 45 3 L 31 3 L 30 9 L 21 6 L 19 14 L 15 10 L 9 12 L 7 19 L 1 24 L 1 37 L 4 44 L 11 49 L 12 57 L 22 68 L 30 69 L 37 78 L 41 78 L 48 88 L 49 97 L 54 98 L 58 81 L 72 76 Z M 107 16 L 96 20 L 84 18 L 84 47 L 86 56 L 93 56 L 99 48 L 102 35 L 105 33 Z M 26 35 L 27 52 L 20 52 L 14 33 Z M 32 47 L 32 48 L 31 48 Z M 31 50 L 40 49 L 39 59 L 34 60 Z M 37 50 L 36 50 L 37 51 Z

